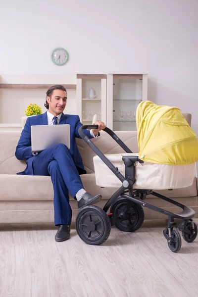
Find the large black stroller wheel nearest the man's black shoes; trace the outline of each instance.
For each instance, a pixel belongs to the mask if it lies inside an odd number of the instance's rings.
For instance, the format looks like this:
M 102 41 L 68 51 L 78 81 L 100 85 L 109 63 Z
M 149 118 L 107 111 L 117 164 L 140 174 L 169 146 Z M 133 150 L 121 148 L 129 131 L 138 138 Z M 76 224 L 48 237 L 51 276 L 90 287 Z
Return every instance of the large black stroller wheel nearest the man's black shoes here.
M 88 245 L 101 245 L 109 237 L 110 220 L 106 212 L 98 206 L 82 207 L 76 217 L 76 231 Z

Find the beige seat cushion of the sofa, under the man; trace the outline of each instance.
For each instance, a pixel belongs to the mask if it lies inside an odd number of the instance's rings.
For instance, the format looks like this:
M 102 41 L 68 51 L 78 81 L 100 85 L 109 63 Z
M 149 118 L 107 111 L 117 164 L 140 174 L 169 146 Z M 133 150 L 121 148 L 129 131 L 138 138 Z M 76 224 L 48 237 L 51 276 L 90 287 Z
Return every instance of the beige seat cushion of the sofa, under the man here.
M 101 194 L 102 199 L 109 199 L 116 188 L 100 188 L 96 186 L 95 174 L 83 174 L 81 180 L 86 191 Z M 189 188 L 173 191 L 157 191 L 168 197 L 197 196 L 197 181 Z M 70 199 L 73 199 L 70 196 Z M 50 176 L 30 176 L 0 174 L 0 200 L 53 200 L 53 187 Z

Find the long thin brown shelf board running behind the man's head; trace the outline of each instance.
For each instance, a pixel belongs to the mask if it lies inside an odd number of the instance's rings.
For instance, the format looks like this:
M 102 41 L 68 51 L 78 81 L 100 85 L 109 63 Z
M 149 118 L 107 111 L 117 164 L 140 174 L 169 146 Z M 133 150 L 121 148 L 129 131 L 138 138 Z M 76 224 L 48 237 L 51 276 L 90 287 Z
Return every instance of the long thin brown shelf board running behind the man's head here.
M 0 89 L 49 89 L 49 84 L 0 84 Z M 76 85 L 63 85 L 65 89 L 76 90 Z

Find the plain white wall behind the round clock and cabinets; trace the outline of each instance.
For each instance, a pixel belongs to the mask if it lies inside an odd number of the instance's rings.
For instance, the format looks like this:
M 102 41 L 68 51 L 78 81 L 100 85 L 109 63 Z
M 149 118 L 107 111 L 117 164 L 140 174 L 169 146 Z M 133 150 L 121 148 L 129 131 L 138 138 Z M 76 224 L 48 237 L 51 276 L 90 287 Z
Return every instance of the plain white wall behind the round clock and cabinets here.
M 192 113 L 198 133 L 197 69 L 198 0 L 0 3 L 0 74 L 148 73 L 148 99 Z

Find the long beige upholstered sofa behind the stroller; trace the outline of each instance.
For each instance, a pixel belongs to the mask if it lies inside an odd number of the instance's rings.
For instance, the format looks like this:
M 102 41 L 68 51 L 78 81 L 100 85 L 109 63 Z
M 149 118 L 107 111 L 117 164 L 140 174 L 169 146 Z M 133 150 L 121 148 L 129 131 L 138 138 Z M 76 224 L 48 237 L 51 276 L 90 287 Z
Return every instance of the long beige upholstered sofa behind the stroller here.
M 191 115 L 184 114 L 184 116 L 191 124 Z M 0 223 L 53 222 L 53 189 L 50 177 L 16 175 L 26 166 L 25 161 L 17 160 L 14 155 L 20 134 L 20 132 L 0 132 Z M 116 132 L 116 134 L 132 151 L 138 151 L 137 132 L 125 131 Z M 96 186 L 93 165 L 95 153 L 82 139 L 76 141 L 87 170 L 87 174 L 81 176 L 84 187 L 92 194 L 100 193 L 102 195 L 102 200 L 98 205 L 103 207 L 116 189 Z M 122 148 L 104 131 L 101 131 L 99 138 L 92 141 L 103 153 L 123 152 Z M 189 188 L 160 191 L 160 193 L 191 206 L 198 217 L 197 179 Z M 147 202 L 170 211 L 178 211 L 177 207 L 159 198 L 150 196 L 147 198 Z M 74 221 L 78 212 L 77 202 L 70 197 L 70 204 Z M 166 216 L 148 208 L 145 209 L 145 219 L 163 218 Z

